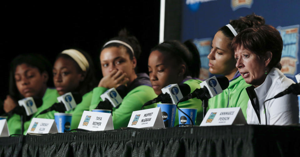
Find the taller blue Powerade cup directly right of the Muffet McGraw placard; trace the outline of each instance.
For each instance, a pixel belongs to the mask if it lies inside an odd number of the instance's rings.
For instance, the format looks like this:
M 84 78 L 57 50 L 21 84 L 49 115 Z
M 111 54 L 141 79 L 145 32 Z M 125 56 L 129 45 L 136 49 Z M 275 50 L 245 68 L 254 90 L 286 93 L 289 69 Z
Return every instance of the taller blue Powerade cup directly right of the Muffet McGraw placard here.
M 157 104 L 160 107 L 165 127 L 173 127 L 175 123 L 176 104 Z

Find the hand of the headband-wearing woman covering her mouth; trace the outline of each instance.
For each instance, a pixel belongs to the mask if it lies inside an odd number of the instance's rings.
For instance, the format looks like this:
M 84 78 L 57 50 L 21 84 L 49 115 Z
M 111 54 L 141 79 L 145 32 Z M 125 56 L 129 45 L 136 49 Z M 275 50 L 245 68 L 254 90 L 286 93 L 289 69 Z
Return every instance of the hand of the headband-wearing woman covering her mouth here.
M 127 78 L 127 74 L 123 73 L 122 71 L 113 70 L 110 72 L 109 75 L 104 76 L 99 84 L 98 87 L 104 87 L 104 88 L 117 88 L 122 84 L 126 84 L 129 81 Z

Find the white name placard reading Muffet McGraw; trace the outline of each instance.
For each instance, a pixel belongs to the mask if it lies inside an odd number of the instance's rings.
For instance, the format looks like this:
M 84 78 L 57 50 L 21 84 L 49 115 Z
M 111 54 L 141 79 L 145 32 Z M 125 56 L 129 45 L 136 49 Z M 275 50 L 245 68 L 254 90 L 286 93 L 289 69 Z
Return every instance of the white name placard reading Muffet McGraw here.
M 133 128 L 164 128 L 164 120 L 160 107 L 132 112 L 127 127 Z

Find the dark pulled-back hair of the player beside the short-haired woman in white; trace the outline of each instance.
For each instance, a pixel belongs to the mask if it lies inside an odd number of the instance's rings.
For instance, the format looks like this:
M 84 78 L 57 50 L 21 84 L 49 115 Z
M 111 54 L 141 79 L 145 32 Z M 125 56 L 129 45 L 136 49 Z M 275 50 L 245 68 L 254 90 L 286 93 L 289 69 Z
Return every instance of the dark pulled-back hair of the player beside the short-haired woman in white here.
M 232 20 L 229 24 L 234 28 L 237 34 L 243 31 L 246 28 L 251 28 L 255 26 L 260 26 L 265 24 L 265 19 L 262 16 L 255 15 L 254 13 L 251 15 L 247 15 L 245 17 L 240 17 L 239 19 Z M 233 40 L 234 35 L 231 30 L 227 26 L 223 26 L 219 29 L 224 36 L 226 36 L 230 41 Z

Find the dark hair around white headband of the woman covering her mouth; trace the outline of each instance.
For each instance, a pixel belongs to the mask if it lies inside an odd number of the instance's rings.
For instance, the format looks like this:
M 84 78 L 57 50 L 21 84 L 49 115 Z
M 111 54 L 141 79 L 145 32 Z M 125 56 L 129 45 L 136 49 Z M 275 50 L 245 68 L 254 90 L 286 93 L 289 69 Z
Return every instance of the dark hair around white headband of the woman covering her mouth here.
M 136 39 L 135 36 L 130 35 L 130 33 L 125 28 L 122 29 L 121 31 L 119 31 L 119 34 L 117 37 L 111 38 L 109 41 L 111 41 L 111 40 L 121 40 L 121 41 L 124 41 L 125 43 L 129 44 L 134 51 L 135 58 L 139 59 L 140 54 L 141 54 L 140 42 Z M 110 43 L 108 45 L 105 45 L 104 47 L 102 47 L 101 51 L 108 47 L 120 47 L 120 46 L 124 46 L 126 48 L 126 52 L 128 53 L 130 60 L 132 60 L 133 52 L 127 46 L 120 44 L 120 43 Z M 100 51 L 100 54 L 101 54 L 101 51 Z

